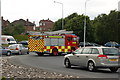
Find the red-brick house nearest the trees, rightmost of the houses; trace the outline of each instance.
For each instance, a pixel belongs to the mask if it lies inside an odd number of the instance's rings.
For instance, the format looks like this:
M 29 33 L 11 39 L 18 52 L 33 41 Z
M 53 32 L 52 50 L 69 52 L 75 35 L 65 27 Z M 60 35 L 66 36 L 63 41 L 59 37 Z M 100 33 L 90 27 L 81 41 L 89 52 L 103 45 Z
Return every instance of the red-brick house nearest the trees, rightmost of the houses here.
M 36 26 L 37 31 L 51 31 L 53 28 L 54 22 L 47 19 L 47 20 L 40 20 L 39 26 Z

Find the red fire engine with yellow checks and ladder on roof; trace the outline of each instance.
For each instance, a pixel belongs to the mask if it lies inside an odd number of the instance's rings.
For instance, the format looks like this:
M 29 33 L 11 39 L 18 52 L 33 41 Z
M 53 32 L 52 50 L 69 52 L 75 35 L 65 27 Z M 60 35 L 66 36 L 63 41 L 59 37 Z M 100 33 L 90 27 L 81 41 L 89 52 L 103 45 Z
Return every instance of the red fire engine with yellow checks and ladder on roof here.
M 78 37 L 71 31 L 54 31 L 28 35 L 28 50 L 38 55 L 48 53 L 60 55 L 63 52 L 71 52 L 78 46 Z

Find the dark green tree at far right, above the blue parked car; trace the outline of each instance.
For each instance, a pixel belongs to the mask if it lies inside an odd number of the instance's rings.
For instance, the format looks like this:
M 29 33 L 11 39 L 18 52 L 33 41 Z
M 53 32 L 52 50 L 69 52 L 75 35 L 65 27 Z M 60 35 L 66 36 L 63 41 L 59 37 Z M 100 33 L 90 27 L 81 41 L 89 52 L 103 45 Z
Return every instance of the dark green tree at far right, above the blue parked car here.
M 106 43 L 108 41 L 119 42 L 120 26 L 118 12 L 111 11 L 108 15 L 101 14 L 94 20 L 96 42 Z

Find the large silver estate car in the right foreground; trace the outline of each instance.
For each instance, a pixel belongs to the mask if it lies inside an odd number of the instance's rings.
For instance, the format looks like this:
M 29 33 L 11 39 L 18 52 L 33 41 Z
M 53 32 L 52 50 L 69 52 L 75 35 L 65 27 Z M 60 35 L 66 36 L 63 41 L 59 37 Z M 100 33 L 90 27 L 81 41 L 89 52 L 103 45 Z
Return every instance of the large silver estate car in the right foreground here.
M 72 65 L 88 68 L 95 71 L 97 68 L 109 68 L 116 72 L 120 67 L 119 50 L 111 47 L 83 47 L 71 54 L 64 56 L 64 65 L 70 68 Z

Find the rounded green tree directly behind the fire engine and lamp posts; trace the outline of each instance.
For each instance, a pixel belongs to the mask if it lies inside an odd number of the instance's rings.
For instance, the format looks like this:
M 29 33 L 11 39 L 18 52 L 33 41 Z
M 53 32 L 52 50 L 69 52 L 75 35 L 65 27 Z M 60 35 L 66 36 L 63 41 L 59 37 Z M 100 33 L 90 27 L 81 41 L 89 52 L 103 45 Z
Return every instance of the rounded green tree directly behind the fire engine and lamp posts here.
M 68 31 L 73 31 L 74 34 L 80 37 L 80 41 L 83 41 L 84 35 L 84 15 L 78 15 L 77 13 L 73 13 L 64 19 L 64 29 Z M 54 30 L 61 29 L 61 19 L 55 22 Z M 94 41 L 94 28 L 91 25 L 91 21 L 88 16 L 86 16 L 86 41 Z

